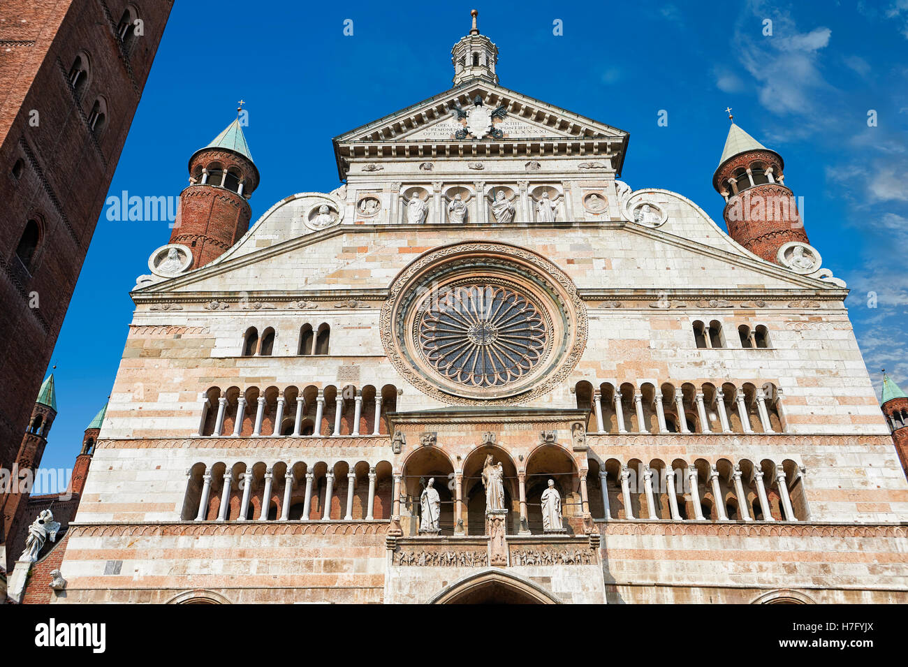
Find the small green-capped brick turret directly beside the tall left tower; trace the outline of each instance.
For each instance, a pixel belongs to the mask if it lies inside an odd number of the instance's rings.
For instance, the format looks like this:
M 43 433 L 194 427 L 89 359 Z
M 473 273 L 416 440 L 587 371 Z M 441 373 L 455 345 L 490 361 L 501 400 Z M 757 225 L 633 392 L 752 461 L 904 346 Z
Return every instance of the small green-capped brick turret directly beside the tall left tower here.
M 25 519 L 28 497 L 31 494 L 31 488 L 27 490 L 20 488 L 20 481 L 24 478 L 25 471 L 30 470 L 34 473 L 35 468 L 40 464 L 41 456 L 44 455 L 44 447 L 47 446 L 47 435 L 54 424 L 56 414 L 56 391 L 54 390 L 54 375 L 51 374 L 41 385 L 38 398 L 35 400 L 35 407 L 32 408 L 32 417 L 28 420 L 25 436 L 22 437 L 19 451 L 15 457 L 13 471 L 5 480 L 5 483 L 11 486 L 3 489 L 2 494 L 3 525 L 0 525 L 0 544 L 4 544 L 6 547 L 7 560 L 3 566 L 11 566 L 15 562 L 15 556 L 19 555 L 13 553 L 15 549 L 10 550 L 9 541 L 15 538 L 17 526 L 21 525 Z M 34 476 L 32 479 L 34 481 Z

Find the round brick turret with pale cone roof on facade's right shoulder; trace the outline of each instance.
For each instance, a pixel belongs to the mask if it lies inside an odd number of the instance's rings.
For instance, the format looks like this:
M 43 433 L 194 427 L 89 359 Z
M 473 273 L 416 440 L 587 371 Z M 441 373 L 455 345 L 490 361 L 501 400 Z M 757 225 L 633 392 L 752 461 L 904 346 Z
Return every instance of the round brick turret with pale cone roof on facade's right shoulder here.
M 733 120 L 731 113 L 728 119 Z M 809 243 L 795 195 L 785 187 L 784 169 L 781 155 L 733 122 L 713 174 L 713 187 L 725 197 L 722 217 L 728 235 L 758 257 L 776 263 L 781 263 L 777 253 L 785 243 Z

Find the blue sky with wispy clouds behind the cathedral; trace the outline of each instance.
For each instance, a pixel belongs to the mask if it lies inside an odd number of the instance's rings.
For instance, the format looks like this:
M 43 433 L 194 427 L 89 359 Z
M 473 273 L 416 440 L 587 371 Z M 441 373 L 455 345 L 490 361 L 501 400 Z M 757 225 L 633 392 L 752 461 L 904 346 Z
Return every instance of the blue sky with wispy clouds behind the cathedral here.
M 720 225 L 711 178 L 731 106 L 785 159 L 812 245 L 852 289 L 874 383 L 885 367 L 908 389 L 908 0 L 392 6 L 175 3 L 111 192 L 178 195 L 190 155 L 241 98 L 262 174 L 252 220 L 294 192 L 331 191 L 331 138 L 447 90 L 450 48 L 475 7 L 498 44 L 501 85 L 630 132 L 623 180 L 678 191 Z M 169 236 L 166 222 L 102 212 L 54 350 L 60 413 L 44 467 L 72 466 L 113 386 L 128 292 Z

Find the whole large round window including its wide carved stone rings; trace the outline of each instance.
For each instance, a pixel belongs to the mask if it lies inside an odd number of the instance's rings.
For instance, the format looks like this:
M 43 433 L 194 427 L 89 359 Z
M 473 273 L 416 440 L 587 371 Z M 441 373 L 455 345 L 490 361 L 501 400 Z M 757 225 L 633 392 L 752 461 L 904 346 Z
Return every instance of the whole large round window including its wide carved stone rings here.
M 400 374 L 430 396 L 519 403 L 576 366 L 587 312 L 571 280 L 536 253 L 456 243 L 401 271 L 382 309 L 381 339 Z

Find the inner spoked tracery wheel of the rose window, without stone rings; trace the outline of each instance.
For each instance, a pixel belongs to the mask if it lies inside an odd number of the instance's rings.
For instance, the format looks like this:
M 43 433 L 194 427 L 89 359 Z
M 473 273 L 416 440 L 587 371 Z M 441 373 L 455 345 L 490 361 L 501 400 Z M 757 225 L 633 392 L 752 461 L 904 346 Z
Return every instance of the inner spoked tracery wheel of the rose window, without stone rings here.
M 502 285 L 459 285 L 433 295 L 415 325 L 429 366 L 465 387 L 504 387 L 524 379 L 548 349 L 543 309 Z

